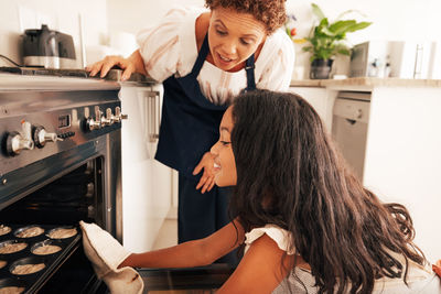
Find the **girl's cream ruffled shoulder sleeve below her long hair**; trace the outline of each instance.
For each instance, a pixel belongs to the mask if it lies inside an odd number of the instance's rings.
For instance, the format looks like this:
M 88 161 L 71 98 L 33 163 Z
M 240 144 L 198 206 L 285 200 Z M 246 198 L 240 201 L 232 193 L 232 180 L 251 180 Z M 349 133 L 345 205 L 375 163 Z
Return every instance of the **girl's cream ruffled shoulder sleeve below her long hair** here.
M 290 255 L 295 254 L 295 248 L 290 248 L 290 246 L 293 244 L 292 235 L 275 225 L 255 228 L 245 233 L 245 251 L 248 250 L 254 241 L 262 237 L 265 233 L 271 238 L 281 250 L 287 251 Z

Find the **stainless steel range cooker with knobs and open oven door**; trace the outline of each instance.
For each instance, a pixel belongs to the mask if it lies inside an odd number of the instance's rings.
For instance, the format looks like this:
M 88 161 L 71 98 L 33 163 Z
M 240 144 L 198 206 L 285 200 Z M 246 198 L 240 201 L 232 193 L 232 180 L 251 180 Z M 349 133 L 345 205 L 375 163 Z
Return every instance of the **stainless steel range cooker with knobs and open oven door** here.
M 0 236 L 0 249 L 2 242 L 28 243 L 20 252 L 0 253 L 0 262 L 8 262 L 0 269 L 0 288 L 108 292 L 84 255 L 78 221 L 96 222 L 122 241 L 121 120 L 127 117 L 118 97 L 121 73 L 111 69 L 103 80 L 82 69 L 0 67 L 0 226 L 11 228 Z M 135 74 L 128 84 L 138 83 L 152 81 Z M 17 237 L 32 226 L 44 233 Z M 52 240 L 46 233 L 57 228 L 75 228 L 78 233 Z M 44 258 L 32 253 L 45 242 L 62 250 Z M 11 270 L 18 262 L 43 262 L 46 268 L 17 276 Z M 137 270 L 143 293 L 214 293 L 234 266 Z

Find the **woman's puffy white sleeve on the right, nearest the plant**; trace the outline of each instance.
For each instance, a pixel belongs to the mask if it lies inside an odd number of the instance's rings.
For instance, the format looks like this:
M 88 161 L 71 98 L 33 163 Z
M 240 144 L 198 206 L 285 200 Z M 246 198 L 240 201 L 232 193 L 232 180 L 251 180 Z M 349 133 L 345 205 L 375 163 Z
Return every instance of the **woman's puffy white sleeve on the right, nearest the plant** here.
M 294 44 L 282 30 L 275 32 L 271 37 L 272 50 L 269 56 L 265 56 L 267 62 L 256 86 L 260 89 L 286 91 L 294 68 Z

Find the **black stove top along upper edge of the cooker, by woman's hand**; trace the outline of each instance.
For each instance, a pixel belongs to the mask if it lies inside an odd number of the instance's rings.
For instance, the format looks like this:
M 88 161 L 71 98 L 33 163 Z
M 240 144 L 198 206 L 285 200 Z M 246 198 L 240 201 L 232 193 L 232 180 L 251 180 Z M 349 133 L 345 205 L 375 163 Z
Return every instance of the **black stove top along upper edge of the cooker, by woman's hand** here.
M 92 77 L 89 73 L 85 69 L 77 68 L 45 68 L 45 67 L 9 67 L 9 66 L 0 66 L 0 73 L 9 73 L 9 74 L 18 74 L 25 76 L 56 76 L 56 77 L 78 77 L 78 78 L 94 78 L 101 79 L 99 76 Z M 122 70 L 121 69 L 110 69 L 105 80 L 120 81 L 121 80 Z M 130 76 L 127 81 L 137 81 L 137 83 L 154 83 L 153 79 L 146 77 L 144 75 L 135 73 Z

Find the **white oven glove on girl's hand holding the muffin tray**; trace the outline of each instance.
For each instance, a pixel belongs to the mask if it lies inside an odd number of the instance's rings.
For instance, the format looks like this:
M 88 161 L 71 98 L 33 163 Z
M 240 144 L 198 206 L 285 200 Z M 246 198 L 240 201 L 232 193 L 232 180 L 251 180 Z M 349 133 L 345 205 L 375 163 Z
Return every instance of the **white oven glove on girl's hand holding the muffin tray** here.
M 143 282 L 132 268 L 117 269 L 130 255 L 109 232 L 96 224 L 79 221 L 83 230 L 83 247 L 98 279 L 101 279 L 112 294 L 140 294 Z

